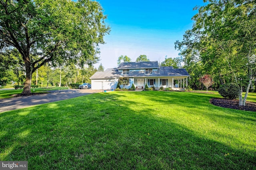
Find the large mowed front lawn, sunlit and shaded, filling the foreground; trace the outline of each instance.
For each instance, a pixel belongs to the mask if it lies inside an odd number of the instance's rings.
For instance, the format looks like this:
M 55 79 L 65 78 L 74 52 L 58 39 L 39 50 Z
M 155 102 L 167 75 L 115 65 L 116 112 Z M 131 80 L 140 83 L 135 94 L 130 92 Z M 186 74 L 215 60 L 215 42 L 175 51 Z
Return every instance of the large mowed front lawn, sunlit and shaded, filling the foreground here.
M 29 169 L 255 169 L 256 113 L 218 94 L 109 92 L 0 113 L 0 160 Z

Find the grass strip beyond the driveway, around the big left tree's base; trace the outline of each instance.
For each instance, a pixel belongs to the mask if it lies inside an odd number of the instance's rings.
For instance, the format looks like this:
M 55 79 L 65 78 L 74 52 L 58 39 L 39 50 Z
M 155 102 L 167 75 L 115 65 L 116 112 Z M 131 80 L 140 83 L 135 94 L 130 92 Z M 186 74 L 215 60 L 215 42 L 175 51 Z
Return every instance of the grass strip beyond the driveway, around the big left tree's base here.
M 50 88 L 31 88 L 31 92 L 33 93 L 39 93 L 39 92 L 45 92 L 49 90 L 63 90 L 68 89 L 68 87 L 50 87 Z M 0 99 L 4 98 L 13 98 L 13 94 L 20 94 L 23 91 L 23 89 L 17 89 L 17 90 L 0 90 Z

